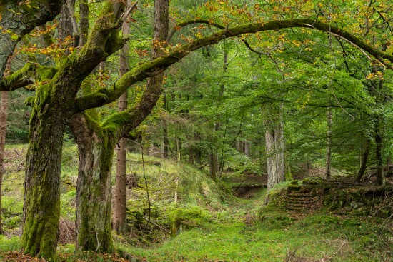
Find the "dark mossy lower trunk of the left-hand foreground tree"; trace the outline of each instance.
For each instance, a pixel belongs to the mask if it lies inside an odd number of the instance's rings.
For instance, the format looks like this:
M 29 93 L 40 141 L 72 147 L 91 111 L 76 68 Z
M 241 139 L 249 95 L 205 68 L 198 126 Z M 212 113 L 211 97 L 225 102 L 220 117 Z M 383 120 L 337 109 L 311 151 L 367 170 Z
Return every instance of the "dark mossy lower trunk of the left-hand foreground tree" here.
M 36 93 L 30 120 L 21 246 L 31 256 L 54 258 L 60 216 L 61 148 L 68 116 L 64 102 L 46 96 L 49 91 L 45 89 L 50 86 Z

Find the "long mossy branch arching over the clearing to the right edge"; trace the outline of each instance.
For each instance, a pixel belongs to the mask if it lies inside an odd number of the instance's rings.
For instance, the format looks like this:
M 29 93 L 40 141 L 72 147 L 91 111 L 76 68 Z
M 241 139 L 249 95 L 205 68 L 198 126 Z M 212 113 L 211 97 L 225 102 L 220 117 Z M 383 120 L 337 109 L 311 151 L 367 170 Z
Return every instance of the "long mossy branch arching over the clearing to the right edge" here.
M 136 66 L 129 73 L 124 74 L 111 89 L 99 89 L 98 91 L 89 94 L 87 96 L 82 96 L 75 101 L 75 110 L 77 112 L 84 111 L 86 109 L 91 109 L 104 104 L 109 104 L 115 101 L 121 94 L 124 93 L 129 86 L 135 84 L 138 81 L 142 81 L 147 77 L 156 76 L 162 71 L 166 70 L 169 66 L 176 63 L 184 56 L 189 54 L 191 51 L 197 50 L 203 46 L 208 46 L 211 44 L 217 44 L 222 39 L 227 39 L 232 36 L 240 36 L 242 34 L 254 34 L 259 31 L 277 31 L 279 29 L 287 29 L 293 27 L 304 27 L 309 29 L 316 29 L 319 31 L 324 31 L 329 34 L 334 33 L 341 36 L 343 39 L 352 42 L 359 46 L 370 55 L 374 56 L 379 61 L 384 61 L 387 59 L 393 63 L 393 55 L 387 54 L 386 52 L 379 51 L 369 44 L 365 43 L 361 39 L 357 38 L 348 31 L 339 29 L 337 26 L 332 26 L 320 21 L 313 21 L 312 19 L 286 19 L 286 20 L 273 20 L 267 21 L 266 23 L 254 23 L 242 26 L 235 26 L 229 29 L 223 29 L 218 31 L 211 36 L 205 36 L 201 39 L 191 41 L 189 44 L 181 46 L 179 49 L 173 51 L 171 54 L 166 56 L 161 56 L 152 61 L 148 61 L 144 64 Z

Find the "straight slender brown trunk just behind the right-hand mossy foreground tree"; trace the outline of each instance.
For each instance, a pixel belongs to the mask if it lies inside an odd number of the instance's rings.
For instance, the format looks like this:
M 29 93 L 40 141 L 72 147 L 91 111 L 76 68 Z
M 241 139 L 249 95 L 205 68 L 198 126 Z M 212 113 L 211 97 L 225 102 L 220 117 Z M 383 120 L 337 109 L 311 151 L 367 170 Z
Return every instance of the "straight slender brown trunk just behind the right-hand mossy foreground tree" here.
M 129 5 L 129 4 L 127 4 Z M 123 35 L 129 34 L 129 23 L 123 23 Z M 129 72 L 129 45 L 124 45 L 120 51 L 119 64 L 120 76 Z M 124 92 L 119 98 L 119 112 L 127 109 L 128 92 Z M 114 196 L 114 230 L 117 234 L 124 231 L 126 224 L 127 200 L 126 200 L 126 167 L 127 167 L 127 150 L 126 138 L 120 138 L 117 146 L 116 161 L 116 188 Z

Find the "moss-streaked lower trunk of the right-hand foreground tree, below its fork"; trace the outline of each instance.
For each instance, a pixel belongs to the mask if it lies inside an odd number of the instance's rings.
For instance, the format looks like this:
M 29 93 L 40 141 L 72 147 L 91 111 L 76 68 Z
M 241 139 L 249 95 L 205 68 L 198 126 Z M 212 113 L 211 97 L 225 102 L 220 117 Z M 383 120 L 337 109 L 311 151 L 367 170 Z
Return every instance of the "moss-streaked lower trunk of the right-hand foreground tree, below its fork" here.
M 111 166 L 117 138 L 86 113 L 70 123 L 79 150 L 76 251 L 111 252 Z

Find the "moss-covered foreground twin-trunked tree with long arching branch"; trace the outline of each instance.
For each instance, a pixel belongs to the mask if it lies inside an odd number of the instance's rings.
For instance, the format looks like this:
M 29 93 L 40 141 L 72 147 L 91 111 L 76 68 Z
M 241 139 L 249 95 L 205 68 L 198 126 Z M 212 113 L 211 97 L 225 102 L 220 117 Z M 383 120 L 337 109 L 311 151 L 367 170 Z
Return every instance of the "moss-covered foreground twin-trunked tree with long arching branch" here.
M 29 3 L 29 4 L 28 4 Z M 34 26 L 44 24 L 59 14 L 61 1 L 0 1 L 1 72 L 6 59 L 11 56 L 21 37 Z M 39 7 L 39 8 L 36 8 Z M 10 12 L 9 9 L 17 10 Z M 78 178 L 77 225 L 78 250 L 96 248 L 111 251 L 111 194 L 110 163 L 116 142 L 126 132 L 134 129 L 149 114 L 161 94 L 161 85 L 149 85 L 141 99 L 130 109 L 110 116 L 99 123 L 91 109 L 109 104 L 124 94 L 133 84 L 157 76 L 171 64 L 203 46 L 217 44 L 222 39 L 254 34 L 261 31 L 277 31 L 287 28 L 307 28 L 327 32 L 351 42 L 357 48 L 374 56 L 389 66 L 392 54 L 379 51 L 349 31 L 340 29 L 329 21 L 319 19 L 282 19 L 254 21 L 252 23 L 224 26 L 212 34 L 197 34 L 186 43 L 171 46 L 162 56 L 146 61 L 119 78 L 113 86 L 86 91 L 84 80 L 91 71 L 111 54 L 119 51 L 126 42 L 119 28 L 131 9 L 124 3 L 105 1 L 101 14 L 89 31 L 86 43 L 71 54 L 60 57 L 55 66 L 26 63 L 19 71 L 1 79 L 0 90 L 12 91 L 28 84 L 35 84 L 34 98 L 26 101 L 33 108 L 29 126 L 29 150 L 26 156 L 24 193 L 24 226 L 21 245 L 32 256 L 54 258 L 57 246 L 60 208 L 61 148 L 67 124 L 78 125 L 76 141 L 79 143 L 80 165 Z M 186 24 L 209 24 L 194 19 Z M 10 48 L 11 47 L 11 48 Z M 8 50 L 9 49 L 9 50 Z M 390 66 L 389 66 L 390 67 Z M 94 186 L 86 186 L 94 184 Z M 89 199 L 96 199 L 94 203 Z M 91 213 L 99 211 L 97 213 Z M 101 241 L 96 241 L 99 238 Z

